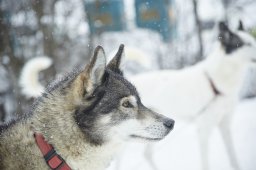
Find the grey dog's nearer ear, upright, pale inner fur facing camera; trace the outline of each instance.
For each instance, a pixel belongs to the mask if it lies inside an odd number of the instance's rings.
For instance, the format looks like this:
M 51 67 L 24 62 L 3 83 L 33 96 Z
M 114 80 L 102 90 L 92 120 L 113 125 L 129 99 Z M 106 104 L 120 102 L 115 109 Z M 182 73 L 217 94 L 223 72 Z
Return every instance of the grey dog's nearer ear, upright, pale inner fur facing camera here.
M 101 85 L 106 69 L 106 56 L 101 46 L 96 47 L 93 57 L 74 83 L 74 95 L 78 98 L 91 94 Z

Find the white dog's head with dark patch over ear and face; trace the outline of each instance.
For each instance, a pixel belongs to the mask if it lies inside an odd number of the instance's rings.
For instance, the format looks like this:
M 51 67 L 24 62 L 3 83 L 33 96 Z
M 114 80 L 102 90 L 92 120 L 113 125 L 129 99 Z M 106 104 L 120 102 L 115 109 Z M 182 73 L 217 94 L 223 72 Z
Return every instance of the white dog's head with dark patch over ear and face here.
M 219 41 L 227 57 L 239 58 L 241 61 L 256 62 L 255 39 L 244 31 L 241 21 L 237 31 L 231 31 L 224 22 L 220 22 Z

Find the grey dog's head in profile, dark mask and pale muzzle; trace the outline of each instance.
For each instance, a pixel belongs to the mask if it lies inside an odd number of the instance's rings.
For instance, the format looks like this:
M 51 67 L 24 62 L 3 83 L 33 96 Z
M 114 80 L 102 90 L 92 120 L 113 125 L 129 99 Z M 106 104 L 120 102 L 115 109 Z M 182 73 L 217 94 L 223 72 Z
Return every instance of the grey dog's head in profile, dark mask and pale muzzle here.
M 98 46 L 90 63 L 74 80 L 77 109 L 75 121 L 93 144 L 112 140 L 157 141 L 164 138 L 174 121 L 145 107 L 136 88 L 125 79 L 120 66 L 124 46 L 106 65 Z

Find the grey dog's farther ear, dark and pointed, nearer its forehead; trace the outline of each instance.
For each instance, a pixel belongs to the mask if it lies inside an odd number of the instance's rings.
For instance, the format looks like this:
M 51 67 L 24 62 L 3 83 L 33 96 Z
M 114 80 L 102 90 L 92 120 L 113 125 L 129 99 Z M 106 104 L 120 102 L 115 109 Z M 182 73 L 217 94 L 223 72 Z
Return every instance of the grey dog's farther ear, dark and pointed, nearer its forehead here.
M 119 46 L 119 49 L 115 57 L 108 63 L 107 68 L 116 73 L 123 74 L 122 73 L 123 63 L 124 63 L 124 45 L 121 44 Z

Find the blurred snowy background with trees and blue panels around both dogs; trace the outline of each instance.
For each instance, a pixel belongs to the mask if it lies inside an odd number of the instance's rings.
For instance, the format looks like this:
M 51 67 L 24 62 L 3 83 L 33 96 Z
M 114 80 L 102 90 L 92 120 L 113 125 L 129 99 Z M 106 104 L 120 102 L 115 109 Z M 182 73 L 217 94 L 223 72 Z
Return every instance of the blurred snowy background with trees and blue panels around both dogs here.
M 242 20 L 256 36 L 255 10 L 255 0 L 0 0 L 0 122 L 25 113 L 33 102 L 19 86 L 21 70 L 32 58 L 53 60 L 39 74 L 44 86 L 85 65 L 97 45 L 112 57 L 125 44 L 127 76 L 182 69 L 209 54 L 219 21 L 236 29 Z M 243 126 L 233 136 L 243 170 L 256 169 L 255 96 L 256 78 L 250 76 L 232 124 Z M 177 127 L 154 147 L 154 165 L 145 158 L 144 146 L 131 145 L 110 169 L 200 169 L 195 127 L 182 122 Z M 217 131 L 210 141 L 211 168 L 232 169 Z

